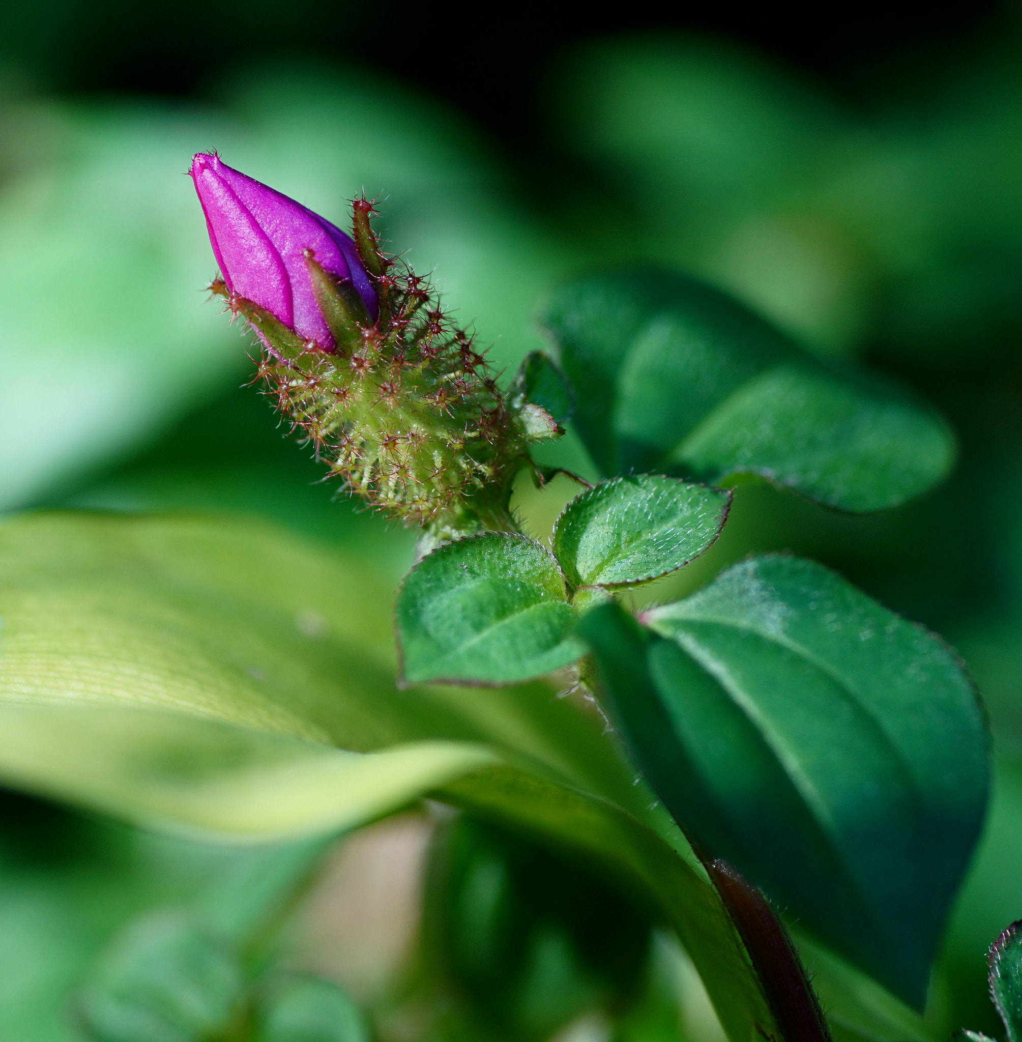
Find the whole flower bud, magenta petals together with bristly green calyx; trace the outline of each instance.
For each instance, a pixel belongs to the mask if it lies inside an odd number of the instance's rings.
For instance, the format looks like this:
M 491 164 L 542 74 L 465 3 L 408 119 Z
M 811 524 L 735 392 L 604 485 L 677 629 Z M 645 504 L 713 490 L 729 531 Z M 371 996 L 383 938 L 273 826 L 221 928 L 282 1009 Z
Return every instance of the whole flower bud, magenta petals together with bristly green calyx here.
M 197 155 L 192 176 L 223 275 L 209 289 L 257 333 L 267 393 L 317 457 L 423 526 L 420 546 L 516 530 L 514 477 L 560 428 L 524 390 L 505 400 L 474 338 L 382 252 L 372 203 L 355 200 L 349 239 L 216 155 Z

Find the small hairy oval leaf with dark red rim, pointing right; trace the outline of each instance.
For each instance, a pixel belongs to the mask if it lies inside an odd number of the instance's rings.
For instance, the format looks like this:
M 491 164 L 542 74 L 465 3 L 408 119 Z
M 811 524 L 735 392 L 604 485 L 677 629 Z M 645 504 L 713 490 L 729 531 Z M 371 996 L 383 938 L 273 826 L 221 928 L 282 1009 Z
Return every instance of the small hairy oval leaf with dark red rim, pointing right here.
M 565 507 L 553 552 L 574 587 L 645 582 L 705 551 L 730 503 L 729 492 L 677 478 L 612 478 Z

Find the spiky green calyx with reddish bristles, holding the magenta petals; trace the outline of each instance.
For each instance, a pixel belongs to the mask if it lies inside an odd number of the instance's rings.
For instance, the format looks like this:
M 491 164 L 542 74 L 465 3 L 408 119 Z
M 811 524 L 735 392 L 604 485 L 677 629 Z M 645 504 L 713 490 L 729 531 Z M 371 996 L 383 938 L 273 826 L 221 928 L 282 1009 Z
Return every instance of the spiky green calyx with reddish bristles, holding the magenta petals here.
M 210 290 L 259 337 L 257 378 L 317 458 L 374 508 L 426 528 L 425 541 L 517 530 L 508 501 L 530 442 L 559 428 L 520 395 L 505 398 L 473 337 L 422 279 L 385 255 L 354 204 L 354 239 L 379 299 L 374 322 L 346 281 L 306 264 L 335 348 L 304 341 L 224 282 Z M 521 399 L 521 400 L 520 400 Z M 543 413 L 543 416 L 539 416 Z

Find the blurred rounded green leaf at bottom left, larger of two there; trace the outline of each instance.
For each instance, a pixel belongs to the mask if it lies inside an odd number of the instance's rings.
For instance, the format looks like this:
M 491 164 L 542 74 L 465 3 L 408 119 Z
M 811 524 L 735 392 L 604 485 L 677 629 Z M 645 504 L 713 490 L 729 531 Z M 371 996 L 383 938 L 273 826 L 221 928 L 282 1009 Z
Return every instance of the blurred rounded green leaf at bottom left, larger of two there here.
M 244 1013 L 235 957 L 192 919 L 159 912 L 134 922 L 76 996 L 93 1042 L 205 1042 Z

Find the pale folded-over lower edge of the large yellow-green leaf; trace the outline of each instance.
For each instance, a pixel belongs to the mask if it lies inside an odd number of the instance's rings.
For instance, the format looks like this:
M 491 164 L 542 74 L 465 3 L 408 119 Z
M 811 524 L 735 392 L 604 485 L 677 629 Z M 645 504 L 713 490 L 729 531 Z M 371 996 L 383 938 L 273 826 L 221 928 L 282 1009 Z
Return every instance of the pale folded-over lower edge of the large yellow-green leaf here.
M 484 746 L 330 748 L 197 716 L 0 703 L 8 785 L 202 839 L 265 842 L 356 827 L 494 763 Z

